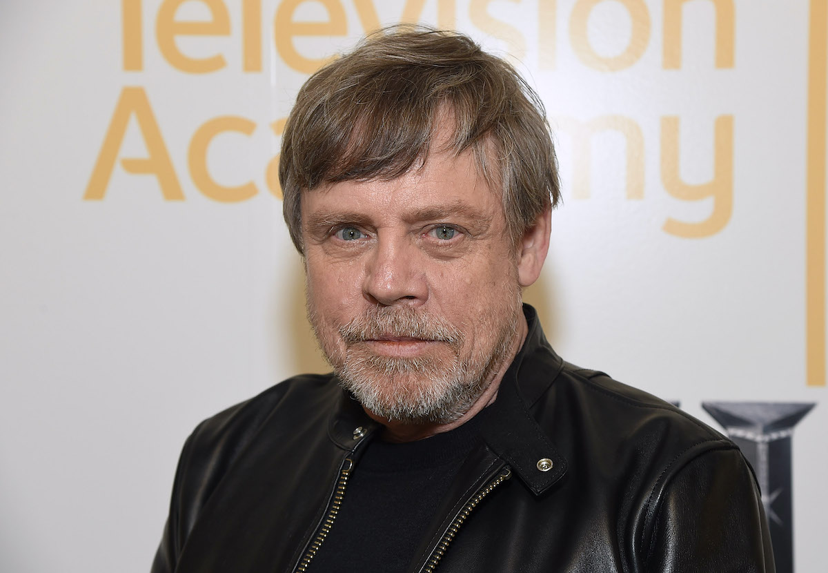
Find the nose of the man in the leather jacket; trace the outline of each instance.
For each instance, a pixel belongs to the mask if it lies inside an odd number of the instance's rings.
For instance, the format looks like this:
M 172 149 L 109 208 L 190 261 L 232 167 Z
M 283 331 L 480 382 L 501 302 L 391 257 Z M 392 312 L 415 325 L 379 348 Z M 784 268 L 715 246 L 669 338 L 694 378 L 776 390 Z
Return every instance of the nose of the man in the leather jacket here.
M 383 306 L 420 306 L 428 298 L 426 270 L 416 247 L 404 238 L 379 238 L 366 262 L 363 293 Z

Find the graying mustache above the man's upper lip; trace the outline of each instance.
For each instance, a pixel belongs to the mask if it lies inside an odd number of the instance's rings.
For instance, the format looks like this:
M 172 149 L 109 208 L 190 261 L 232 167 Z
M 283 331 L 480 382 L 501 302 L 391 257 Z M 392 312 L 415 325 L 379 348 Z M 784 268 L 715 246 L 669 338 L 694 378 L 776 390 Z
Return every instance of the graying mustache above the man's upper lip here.
M 463 332 L 448 320 L 412 308 L 372 308 L 339 329 L 342 339 L 354 344 L 383 338 L 408 338 L 460 344 Z

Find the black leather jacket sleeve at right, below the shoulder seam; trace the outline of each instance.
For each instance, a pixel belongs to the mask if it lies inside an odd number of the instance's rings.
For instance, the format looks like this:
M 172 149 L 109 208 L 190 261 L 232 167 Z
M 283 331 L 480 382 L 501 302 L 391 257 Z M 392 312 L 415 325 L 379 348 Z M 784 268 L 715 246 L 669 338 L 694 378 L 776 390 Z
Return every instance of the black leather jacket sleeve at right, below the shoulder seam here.
M 688 460 L 659 497 L 643 538 L 645 571 L 775 573 L 758 484 L 735 447 Z

